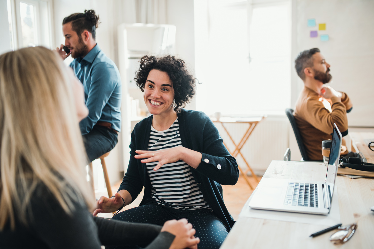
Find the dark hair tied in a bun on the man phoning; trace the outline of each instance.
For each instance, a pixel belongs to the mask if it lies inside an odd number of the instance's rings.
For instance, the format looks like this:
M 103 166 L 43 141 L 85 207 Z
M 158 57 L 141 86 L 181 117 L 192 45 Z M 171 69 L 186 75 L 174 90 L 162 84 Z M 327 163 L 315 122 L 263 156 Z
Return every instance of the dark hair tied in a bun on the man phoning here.
M 96 39 L 96 28 L 99 24 L 99 16 L 95 15 L 95 10 L 85 10 L 85 13 L 74 13 L 67 16 L 62 21 L 62 25 L 71 22 L 71 28 L 78 35 L 88 30 L 92 34 L 93 40 Z

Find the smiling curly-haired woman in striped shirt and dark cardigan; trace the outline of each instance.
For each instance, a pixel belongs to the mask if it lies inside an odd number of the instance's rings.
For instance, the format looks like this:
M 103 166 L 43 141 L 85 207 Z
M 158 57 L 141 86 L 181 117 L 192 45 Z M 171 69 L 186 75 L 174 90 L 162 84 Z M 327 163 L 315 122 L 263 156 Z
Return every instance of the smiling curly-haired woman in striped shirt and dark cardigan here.
M 113 212 L 131 203 L 144 187 L 140 206 L 113 219 L 162 224 L 186 218 L 200 238 L 198 248 L 219 248 L 234 221 L 222 198 L 220 184 L 239 177 L 209 117 L 183 109 L 199 81 L 174 56 L 144 56 L 135 81 L 148 112 L 131 134 L 128 170 L 114 198 L 102 196 L 94 212 Z M 123 201 L 122 201 L 123 198 Z

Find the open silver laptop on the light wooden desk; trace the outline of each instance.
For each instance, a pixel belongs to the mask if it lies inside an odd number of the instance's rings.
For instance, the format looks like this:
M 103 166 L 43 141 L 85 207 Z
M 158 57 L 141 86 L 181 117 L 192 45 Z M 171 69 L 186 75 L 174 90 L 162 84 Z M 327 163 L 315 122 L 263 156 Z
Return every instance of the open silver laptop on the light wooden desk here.
M 342 136 L 334 123 L 325 181 L 262 178 L 249 207 L 273 211 L 327 215 L 331 209 Z M 302 166 L 301 166 L 302 167 Z

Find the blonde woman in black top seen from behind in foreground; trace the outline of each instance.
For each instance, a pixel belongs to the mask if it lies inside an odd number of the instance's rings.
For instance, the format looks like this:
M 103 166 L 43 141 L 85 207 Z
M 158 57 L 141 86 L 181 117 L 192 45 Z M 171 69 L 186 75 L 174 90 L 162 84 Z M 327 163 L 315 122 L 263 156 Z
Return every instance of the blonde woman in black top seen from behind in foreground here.
M 44 47 L 0 56 L 0 248 L 196 248 L 187 220 L 163 227 L 92 217 L 79 121 L 82 84 Z

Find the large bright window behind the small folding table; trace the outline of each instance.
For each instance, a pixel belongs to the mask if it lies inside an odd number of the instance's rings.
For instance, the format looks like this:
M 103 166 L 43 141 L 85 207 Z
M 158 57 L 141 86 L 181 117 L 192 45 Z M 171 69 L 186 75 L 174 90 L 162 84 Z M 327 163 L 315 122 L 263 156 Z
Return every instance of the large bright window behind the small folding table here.
M 203 83 L 196 109 L 208 115 L 284 113 L 291 103 L 290 1 L 207 3 L 206 18 L 195 14 L 196 76 Z

